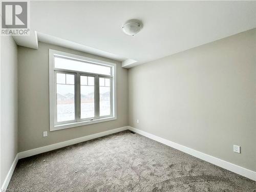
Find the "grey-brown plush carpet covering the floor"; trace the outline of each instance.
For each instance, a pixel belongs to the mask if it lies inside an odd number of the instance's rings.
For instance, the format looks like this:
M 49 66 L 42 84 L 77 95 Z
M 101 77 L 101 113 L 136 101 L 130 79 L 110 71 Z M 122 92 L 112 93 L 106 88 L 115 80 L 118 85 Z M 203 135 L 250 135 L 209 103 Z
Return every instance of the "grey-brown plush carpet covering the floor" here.
M 20 159 L 8 186 L 17 189 L 249 192 L 256 182 L 124 131 Z

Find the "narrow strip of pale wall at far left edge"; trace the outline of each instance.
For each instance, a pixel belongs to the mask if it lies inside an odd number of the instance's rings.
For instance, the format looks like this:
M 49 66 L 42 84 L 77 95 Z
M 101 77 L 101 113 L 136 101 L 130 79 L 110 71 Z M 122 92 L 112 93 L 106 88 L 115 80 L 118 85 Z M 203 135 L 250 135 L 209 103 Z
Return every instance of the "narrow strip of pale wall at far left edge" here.
M 17 154 L 18 122 L 17 45 L 1 37 L 1 186 Z

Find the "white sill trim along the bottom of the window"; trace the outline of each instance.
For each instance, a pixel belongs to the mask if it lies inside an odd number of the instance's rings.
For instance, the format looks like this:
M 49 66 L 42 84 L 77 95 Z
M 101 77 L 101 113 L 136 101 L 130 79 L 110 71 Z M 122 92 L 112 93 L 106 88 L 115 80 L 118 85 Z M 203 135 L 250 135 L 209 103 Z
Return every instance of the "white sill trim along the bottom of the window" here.
M 115 119 L 116 119 L 116 117 L 106 117 L 106 118 L 102 118 L 102 119 L 95 119 L 95 120 L 89 120 L 89 121 L 82 121 L 82 122 L 74 122 L 74 123 L 68 123 L 68 124 L 55 125 L 53 127 L 50 127 L 50 131 L 57 131 L 57 130 L 68 129 L 68 128 L 71 128 L 71 127 L 76 127 L 76 126 L 83 126 L 83 125 L 100 123 L 100 122 L 105 122 L 105 121 L 112 121 L 112 120 L 115 120 Z

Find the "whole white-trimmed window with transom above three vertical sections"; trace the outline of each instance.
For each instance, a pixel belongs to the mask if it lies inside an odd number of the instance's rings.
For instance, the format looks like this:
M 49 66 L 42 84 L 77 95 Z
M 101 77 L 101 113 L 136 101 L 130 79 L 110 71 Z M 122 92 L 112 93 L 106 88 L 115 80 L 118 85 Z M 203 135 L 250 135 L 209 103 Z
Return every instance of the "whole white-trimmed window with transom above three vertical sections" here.
M 116 64 L 49 50 L 50 131 L 116 119 Z

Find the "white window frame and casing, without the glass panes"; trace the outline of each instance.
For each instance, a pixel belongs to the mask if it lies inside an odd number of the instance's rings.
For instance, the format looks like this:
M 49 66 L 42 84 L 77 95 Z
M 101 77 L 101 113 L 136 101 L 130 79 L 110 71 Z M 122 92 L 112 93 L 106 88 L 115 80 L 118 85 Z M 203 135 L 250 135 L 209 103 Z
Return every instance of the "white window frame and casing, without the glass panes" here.
M 88 73 L 82 71 L 73 71 L 66 69 L 58 69 L 54 67 L 54 57 L 61 57 L 73 60 L 84 61 L 95 65 L 111 67 L 111 75 L 102 75 L 96 73 Z M 57 93 L 56 93 L 56 73 L 70 73 L 75 74 L 75 120 L 57 122 Z M 99 98 L 95 102 L 95 114 L 98 114 L 94 119 L 80 119 L 80 76 L 94 76 L 94 95 L 99 95 L 99 77 L 111 79 L 111 115 L 99 117 Z M 117 119 L 117 101 L 116 101 L 116 63 L 107 62 L 103 60 L 93 59 L 71 53 L 49 49 L 49 101 L 50 101 L 50 131 L 67 129 L 75 126 L 82 126 L 87 124 L 99 123 L 104 121 L 111 121 Z

